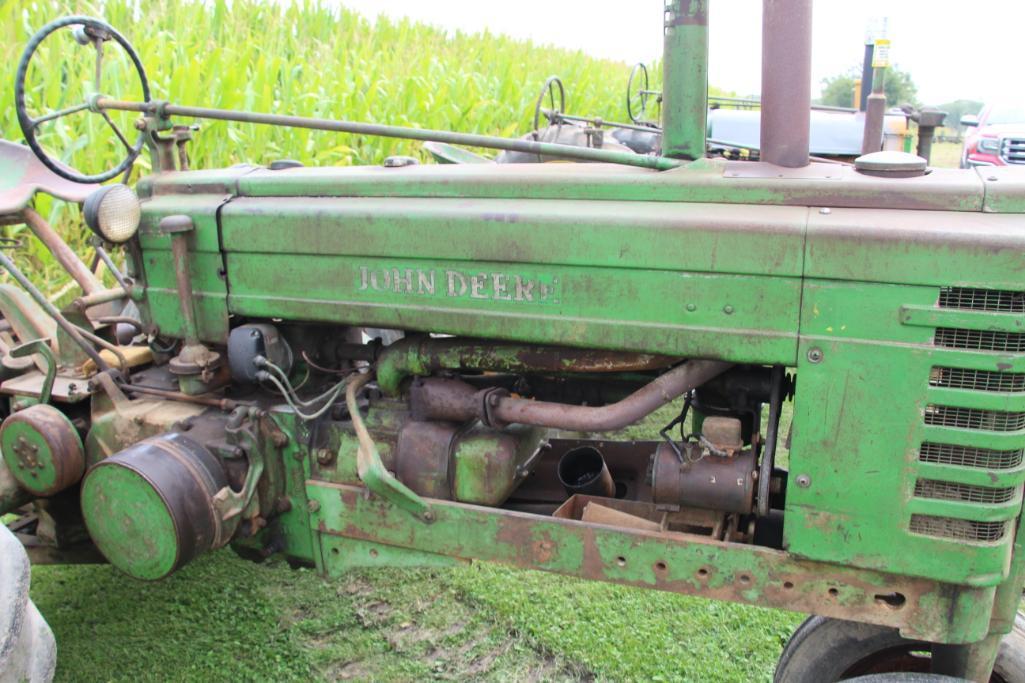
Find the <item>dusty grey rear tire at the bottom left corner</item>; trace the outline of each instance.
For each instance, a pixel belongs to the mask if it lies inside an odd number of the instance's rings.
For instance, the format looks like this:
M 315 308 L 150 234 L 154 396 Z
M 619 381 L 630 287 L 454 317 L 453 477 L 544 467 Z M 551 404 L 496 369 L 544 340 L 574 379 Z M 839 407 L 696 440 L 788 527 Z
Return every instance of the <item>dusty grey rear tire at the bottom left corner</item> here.
M 29 558 L 0 524 L 0 683 L 48 683 L 56 668 L 53 632 L 29 599 Z

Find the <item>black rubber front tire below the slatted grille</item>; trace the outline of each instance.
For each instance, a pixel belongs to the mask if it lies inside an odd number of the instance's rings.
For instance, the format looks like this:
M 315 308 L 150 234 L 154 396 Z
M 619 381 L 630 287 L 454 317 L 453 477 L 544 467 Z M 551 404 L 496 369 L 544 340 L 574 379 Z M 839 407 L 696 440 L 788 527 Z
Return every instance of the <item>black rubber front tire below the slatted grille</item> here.
M 902 638 L 896 629 L 812 616 L 797 627 L 783 648 L 773 681 L 833 683 L 861 680 L 857 677 L 869 675 L 869 672 L 857 671 L 858 662 L 888 650 L 906 649 L 908 645 L 919 643 Z M 928 650 L 929 647 L 929 643 L 920 643 L 920 648 L 915 649 Z M 994 680 L 1002 683 L 1025 683 L 1025 617 L 1021 614 L 1015 619 L 1014 630 L 1000 643 L 993 673 Z M 854 678 L 850 678 L 852 676 Z

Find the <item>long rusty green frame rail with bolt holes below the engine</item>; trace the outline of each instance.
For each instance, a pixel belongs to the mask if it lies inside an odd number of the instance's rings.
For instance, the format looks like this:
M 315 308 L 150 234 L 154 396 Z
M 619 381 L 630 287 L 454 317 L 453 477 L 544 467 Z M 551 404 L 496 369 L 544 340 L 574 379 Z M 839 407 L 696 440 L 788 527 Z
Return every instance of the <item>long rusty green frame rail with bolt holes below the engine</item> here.
M 696 537 L 666 537 L 573 520 L 432 501 L 427 524 L 365 489 L 311 481 L 318 503 L 313 522 L 323 548 L 333 539 L 481 559 L 586 578 L 857 618 L 898 627 L 906 635 L 972 642 L 988 632 L 988 611 L 963 609 L 991 601 L 991 589 L 970 589 L 894 574 L 795 560 L 752 546 L 723 546 Z M 340 555 L 340 552 L 339 554 Z M 325 562 L 354 565 L 325 553 Z M 358 558 L 357 558 L 358 559 Z M 368 562 L 370 558 L 367 558 Z M 338 571 L 337 569 L 329 571 Z M 899 593 L 894 609 L 883 598 Z

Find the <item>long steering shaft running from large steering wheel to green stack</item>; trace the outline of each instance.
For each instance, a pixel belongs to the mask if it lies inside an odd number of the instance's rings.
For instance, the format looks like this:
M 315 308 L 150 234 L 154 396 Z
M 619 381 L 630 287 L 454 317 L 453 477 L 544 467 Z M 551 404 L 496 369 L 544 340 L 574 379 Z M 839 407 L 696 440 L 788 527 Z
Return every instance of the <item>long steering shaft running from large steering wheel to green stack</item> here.
M 127 112 L 141 112 L 165 116 L 187 116 L 199 119 L 214 119 L 217 121 L 237 121 L 239 123 L 260 123 L 266 125 L 290 126 L 293 128 L 310 128 L 312 130 L 329 130 L 333 132 L 354 133 L 358 135 L 378 135 L 381 137 L 401 137 L 421 142 L 448 143 L 449 145 L 464 145 L 467 147 L 483 147 L 508 152 L 524 152 L 567 159 L 582 159 L 584 161 L 607 162 L 626 166 L 640 166 L 655 170 L 668 170 L 682 165 L 682 162 L 663 157 L 651 157 L 631 152 L 614 152 L 611 150 L 596 150 L 572 145 L 556 143 L 538 143 L 527 139 L 507 139 L 493 135 L 478 135 L 475 133 L 459 133 L 449 130 L 430 130 L 428 128 L 406 128 L 403 126 L 387 126 L 378 123 L 360 123 L 357 121 L 336 121 L 333 119 L 317 119 L 302 116 L 286 116 L 280 114 L 257 114 L 255 112 L 238 112 L 224 109 L 208 109 L 203 107 L 179 107 L 161 103 L 121 102 L 101 97 L 96 106 L 101 109 L 114 109 Z

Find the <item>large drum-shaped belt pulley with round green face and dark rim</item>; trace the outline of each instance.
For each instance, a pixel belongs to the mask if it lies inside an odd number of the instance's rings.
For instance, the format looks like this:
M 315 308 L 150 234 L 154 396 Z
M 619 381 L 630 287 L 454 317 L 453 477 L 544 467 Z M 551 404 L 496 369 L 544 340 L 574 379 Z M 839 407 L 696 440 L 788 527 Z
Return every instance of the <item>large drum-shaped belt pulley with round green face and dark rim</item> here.
M 177 433 L 140 441 L 90 468 L 82 515 L 111 564 L 163 578 L 227 543 L 213 497 L 228 485 L 219 460 Z

